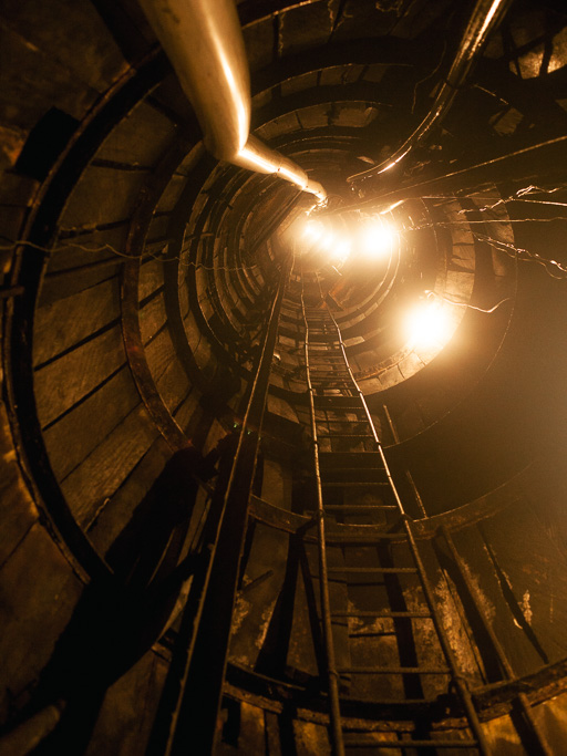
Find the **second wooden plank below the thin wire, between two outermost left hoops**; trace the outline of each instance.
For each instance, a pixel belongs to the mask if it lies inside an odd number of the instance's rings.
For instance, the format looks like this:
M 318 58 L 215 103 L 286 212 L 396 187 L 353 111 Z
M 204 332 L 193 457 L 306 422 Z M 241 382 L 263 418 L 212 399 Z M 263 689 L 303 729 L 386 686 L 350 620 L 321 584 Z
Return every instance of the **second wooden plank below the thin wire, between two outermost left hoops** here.
M 70 410 L 125 363 L 120 325 L 35 372 L 38 416 L 43 426 Z

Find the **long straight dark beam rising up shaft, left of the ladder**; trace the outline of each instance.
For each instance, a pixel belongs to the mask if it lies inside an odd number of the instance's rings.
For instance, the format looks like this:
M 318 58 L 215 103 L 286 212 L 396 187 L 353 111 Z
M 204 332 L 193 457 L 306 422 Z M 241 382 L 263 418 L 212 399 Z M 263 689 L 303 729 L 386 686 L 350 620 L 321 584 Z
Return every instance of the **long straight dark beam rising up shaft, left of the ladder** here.
M 279 312 L 292 262 L 293 258 L 290 257 L 281 267 L 277 296 L 266 327 L 243 427 L 235 444 L 234 463 L 226 489 L 219 494 L 223 499 L 221 510 L 216 540 L 210 548 L 206 593 L 203 605 L 198 608 L 198 625 L 189 639 L 178 696 L 171 712 L 168 733 L 164 734 L 158 752 L 164 756 L 185 754 L 189 745 L 195 752 L 213 753 L 219 735 L 218 712 L 248 521 L 249 494 L 256 469 Z

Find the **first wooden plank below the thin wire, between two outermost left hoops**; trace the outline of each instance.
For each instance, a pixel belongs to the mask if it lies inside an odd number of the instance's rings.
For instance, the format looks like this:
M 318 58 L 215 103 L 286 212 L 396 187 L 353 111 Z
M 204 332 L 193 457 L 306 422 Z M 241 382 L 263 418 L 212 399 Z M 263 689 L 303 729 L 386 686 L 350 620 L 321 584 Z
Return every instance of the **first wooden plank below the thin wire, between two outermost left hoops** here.
M 117 278 L 39 308 L 34 318 L 33 364 L 51 360 L 118 317 Z

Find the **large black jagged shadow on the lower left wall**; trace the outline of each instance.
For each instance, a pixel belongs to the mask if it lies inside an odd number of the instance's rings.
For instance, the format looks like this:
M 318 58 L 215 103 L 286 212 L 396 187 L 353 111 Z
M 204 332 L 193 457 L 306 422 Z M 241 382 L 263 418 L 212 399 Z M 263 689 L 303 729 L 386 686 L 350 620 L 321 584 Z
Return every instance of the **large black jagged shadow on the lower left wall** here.
M 115 579 L 85 589 L 22 712 L 27 718 L 55 701 L 66 702 L 55 731 L 32 753 L 84 753 L 106 690 L 159 638 L 193 569 L 190 553 L 178 559 L 197 476 L 213 474 L 194 448 L 175 453 L 111 547 L 107 561 Z

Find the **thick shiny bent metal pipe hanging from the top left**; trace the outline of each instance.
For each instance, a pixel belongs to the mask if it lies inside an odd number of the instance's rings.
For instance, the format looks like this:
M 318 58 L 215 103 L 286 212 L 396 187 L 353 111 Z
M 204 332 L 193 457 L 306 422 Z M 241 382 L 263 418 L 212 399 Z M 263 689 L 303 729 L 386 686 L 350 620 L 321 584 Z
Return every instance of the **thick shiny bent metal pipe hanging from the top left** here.
M 277 174 L 327 198 L 293 160 L 250 135 L 250 77 L 233 0 L 140 0 L 189 99 L 206 148 L 219 160 Z

